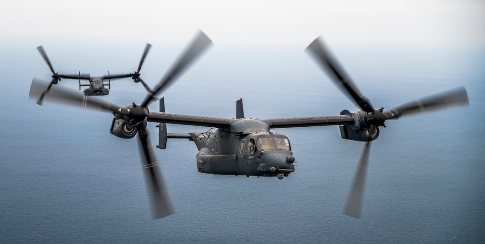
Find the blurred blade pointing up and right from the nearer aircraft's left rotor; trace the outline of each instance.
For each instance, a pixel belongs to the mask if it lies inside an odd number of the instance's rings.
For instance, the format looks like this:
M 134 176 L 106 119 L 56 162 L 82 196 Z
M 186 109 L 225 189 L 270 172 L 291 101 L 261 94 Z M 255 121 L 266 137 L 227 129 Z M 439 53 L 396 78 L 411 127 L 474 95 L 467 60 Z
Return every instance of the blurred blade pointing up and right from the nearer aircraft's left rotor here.
M 207 47 L 209 47 L 211 44 L 212 41 L 209 39 L 209 37 L 204 32 L 200 31 L 197 37 L 191 43 L 191 45 L 189 45 L 189 47 L 186 49 L 185 53 L 180 56 L 175 65 L 173 65 L 168 73 L 160 80 L 160 82 L 153 90 L 153 93 L 146 96 L 141 106 L 146 107 L 152 102 L 157 94 L 163 92 L 170 85 L 172 85 L 172 83 L 178 78 L 178 76 L 185 71 L 188 65 L 194 62 L 200 56 L 200 54 L 202 54 L 202 52 L 207 49 Z

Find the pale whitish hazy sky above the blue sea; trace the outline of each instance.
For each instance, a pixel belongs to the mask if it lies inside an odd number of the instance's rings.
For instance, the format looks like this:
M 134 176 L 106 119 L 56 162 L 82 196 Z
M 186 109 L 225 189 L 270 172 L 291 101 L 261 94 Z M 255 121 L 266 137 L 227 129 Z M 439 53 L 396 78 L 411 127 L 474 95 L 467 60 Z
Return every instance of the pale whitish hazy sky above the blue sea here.
M 187 42 L 218 46 L 471 46 L 485 43 L 483 0 L 21 0 L 0 4 L 7 43 Z

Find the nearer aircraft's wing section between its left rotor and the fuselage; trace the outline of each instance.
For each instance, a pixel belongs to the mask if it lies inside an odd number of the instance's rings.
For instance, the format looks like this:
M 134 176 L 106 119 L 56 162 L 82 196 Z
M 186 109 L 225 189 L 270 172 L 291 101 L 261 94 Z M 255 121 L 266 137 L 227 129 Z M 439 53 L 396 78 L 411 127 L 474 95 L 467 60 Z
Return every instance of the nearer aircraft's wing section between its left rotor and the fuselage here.
M 216 127 L 216 128 L 226 128 L 230 126 L 232 122 L 236 121 L 234 119 L 162 113 L 162 112 L 150 112 L 148 114 L 147 120 L 148 122 L 184 124 L 184 125 L 206 126 L 206 127 Z

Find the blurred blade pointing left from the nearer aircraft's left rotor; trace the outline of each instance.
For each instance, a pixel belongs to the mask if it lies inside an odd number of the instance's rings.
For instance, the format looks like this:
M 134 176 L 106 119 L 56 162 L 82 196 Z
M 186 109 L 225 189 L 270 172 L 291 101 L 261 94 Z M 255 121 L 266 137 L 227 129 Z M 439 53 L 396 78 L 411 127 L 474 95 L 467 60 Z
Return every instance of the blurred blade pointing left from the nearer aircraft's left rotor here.
M 46 82 L 40 79 L 33 78 L 31 89 L 29 92 L 30 99 L 36 99 L 39 95 L 43 94 L 49 88 Z M 103 100 L 97 99 L 95 97 L 84 96 L 80 92 L 73 92 L 69 89 L 54 86 L 50 89 L 49 93 L 44 94 L 44 100 L 63 105 L 70 105 L 73 107 L 89 108 L 93 110 L 101 110 L 108 112 L 115 112 L 128 115 L 129 112 L 126 108 L 119 107 L 117 105 L 105 102 Z

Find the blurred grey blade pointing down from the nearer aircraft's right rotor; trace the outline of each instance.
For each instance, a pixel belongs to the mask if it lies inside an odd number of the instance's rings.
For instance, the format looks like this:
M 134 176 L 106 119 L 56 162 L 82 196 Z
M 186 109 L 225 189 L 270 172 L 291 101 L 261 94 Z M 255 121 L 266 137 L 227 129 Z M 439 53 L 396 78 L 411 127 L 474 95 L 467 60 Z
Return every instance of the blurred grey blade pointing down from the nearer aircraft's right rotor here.
M 354 176 L 354 182 L 350 188 L 349 195 L 343 213 L 345 215 L 360 218 L 362 211 L 362 200 L 364 199 L 364 186 L 367 176 L 367 167 L 369 165 L 369 151 L 371 149 L 371 142 L 364 145 L 362 154 L 360 155 L 359 165 Z

